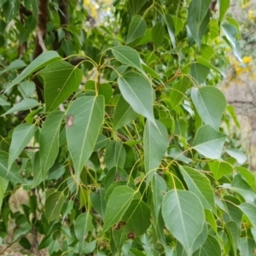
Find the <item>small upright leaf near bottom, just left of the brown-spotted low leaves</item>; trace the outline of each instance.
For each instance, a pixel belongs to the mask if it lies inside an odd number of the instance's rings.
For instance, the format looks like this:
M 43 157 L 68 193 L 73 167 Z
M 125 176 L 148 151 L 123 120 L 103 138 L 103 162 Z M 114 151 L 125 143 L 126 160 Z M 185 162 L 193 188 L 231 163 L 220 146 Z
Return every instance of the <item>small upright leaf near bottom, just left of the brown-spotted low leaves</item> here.
M 94 225 L 92 224 L 92 217 L 89 212 L 84 212 L 76 218 L 74 224 L 74 232 L 79 240 L 84 240 L 88 232 L 94 230 Z

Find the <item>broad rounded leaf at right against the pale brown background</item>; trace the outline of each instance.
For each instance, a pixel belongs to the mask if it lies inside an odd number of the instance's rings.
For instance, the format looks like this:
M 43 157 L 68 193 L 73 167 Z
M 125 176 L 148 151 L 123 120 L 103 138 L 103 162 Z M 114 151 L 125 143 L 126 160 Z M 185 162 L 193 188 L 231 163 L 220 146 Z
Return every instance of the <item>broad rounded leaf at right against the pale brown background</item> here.
M 206 125 L 218 130 L 227 102 L 224 94 L 215 87 L 192 88 L 192 101 Z

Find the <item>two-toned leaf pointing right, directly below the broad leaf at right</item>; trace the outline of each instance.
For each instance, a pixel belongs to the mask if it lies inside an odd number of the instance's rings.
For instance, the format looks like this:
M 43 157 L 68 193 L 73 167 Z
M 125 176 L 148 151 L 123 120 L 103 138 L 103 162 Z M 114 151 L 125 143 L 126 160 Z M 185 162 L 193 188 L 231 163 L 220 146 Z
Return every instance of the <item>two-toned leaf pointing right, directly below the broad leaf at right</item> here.
M 220 158 L 226 136 L 210 125 L 201 126 L 195 134 L 193 148 L 210 159 Z

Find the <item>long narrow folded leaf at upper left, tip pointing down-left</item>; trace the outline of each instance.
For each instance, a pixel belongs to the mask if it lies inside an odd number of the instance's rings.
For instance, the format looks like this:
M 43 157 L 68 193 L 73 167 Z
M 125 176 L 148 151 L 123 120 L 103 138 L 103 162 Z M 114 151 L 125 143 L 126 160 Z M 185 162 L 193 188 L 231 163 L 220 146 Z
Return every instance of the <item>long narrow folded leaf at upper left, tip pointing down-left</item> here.
M 16 77 L 11 84 L 7 87 L 7 90 L 11 89 L 15 84 L 20 84 L 23 79 L 26 79 L 32 73 L 35 73 L 40 68 L 43 68 L 49 65 L 52 62 L 61 60 L 60 55 L 55 50 L 44 51 L 41 55 L 38 56 L 34 61 L 32 61 L 18 77 Z

